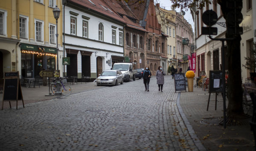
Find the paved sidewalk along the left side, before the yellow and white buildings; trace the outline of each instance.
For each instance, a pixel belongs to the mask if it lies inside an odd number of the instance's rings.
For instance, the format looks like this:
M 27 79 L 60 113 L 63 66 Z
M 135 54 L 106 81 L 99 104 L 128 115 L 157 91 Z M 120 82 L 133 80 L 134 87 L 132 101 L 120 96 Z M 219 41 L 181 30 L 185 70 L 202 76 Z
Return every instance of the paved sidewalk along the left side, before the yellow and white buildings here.
M 79 92 L 85 92 L 85 91 L 90 91 L 93 89 L 101 89 L 103 86 L 96 86 L 96 82 L 87 82 L 87 83 L 82 83 L 78 82 L 77 84 L 70 84 L 69 85 L 72 89 L 71 94 L 79 93 Z M 46 101 L 46 100 L 51 100 L 54 98 L 60 98 L 60 96 L 45 96 L 49 94 L 49 87 L 48 86 L 36 86 L 35 88 L 30 87 L 21 87 L 21 91 L 23 94 L 23 100 L 24 104 L 26 107 L 26 104 L 29 103 L 35 103 L 35 102 L 41 102 L 41 101 Z M 51 92 L 51 89 L 50 89 Z M 52 92 L 51 92 L 52 93 Z M 2 109 L 2 100 L 3 100 L 3 93 L 0 93 L 0 109 Z M 16 109 L 16 101 L 11 101 L 12 109 Z M 22 101 L 18 101 L 18 106 L 22 106 Z M 9 102 L 5 101 L 3 103 L 3 109 L 9 109 Z

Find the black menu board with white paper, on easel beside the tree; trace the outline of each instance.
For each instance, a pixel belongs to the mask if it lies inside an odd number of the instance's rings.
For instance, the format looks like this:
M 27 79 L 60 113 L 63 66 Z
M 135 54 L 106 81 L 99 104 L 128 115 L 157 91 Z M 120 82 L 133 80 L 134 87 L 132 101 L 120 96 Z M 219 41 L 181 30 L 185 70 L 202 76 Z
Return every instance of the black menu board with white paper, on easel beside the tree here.
M 209 78 L 209 93 L 222 92 L 222 71 L 212 71 L 210 70 Z

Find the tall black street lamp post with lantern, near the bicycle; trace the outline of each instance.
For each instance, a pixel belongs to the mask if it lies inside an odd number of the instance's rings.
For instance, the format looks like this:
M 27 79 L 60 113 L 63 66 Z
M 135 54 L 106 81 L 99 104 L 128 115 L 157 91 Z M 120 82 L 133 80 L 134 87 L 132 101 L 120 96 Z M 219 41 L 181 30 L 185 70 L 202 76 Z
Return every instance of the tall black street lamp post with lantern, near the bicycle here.
M 57 51 L 57 71 L 58 71 L 58 18 L 60 17 L 61 10 L 56 5 L 55 8 L 52 10 L 52 12 L 56 20 L 56 51 Z M 57 81 L 57 92 L 55 92 L 55 95 L 61 95 L 60 88 L 61 88 L 61 84 L 59 81 Z

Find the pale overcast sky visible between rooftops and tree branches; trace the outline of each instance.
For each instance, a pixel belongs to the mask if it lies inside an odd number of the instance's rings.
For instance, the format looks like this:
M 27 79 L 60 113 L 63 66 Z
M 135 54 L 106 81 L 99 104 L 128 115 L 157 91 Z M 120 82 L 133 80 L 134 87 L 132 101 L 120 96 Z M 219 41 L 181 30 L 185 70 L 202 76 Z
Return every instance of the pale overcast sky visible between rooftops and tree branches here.
M 154 0 L 154 1 L 157 3 L 160 3 L 160 8 L 164 8 L 166 10 L 172 10 L 171 9 L 171 6 L 172 6 L 171 0 Z M 175 11 L 180 12 L 180 8 L 176 8 Z M 194 21 L 193 21 L 192 15 L 190 13 L 190 10 L 185 11 L 185 12 L 186 12 L 186 14 L 184 17 L 192 25 L 192 29 L 194 31 Z

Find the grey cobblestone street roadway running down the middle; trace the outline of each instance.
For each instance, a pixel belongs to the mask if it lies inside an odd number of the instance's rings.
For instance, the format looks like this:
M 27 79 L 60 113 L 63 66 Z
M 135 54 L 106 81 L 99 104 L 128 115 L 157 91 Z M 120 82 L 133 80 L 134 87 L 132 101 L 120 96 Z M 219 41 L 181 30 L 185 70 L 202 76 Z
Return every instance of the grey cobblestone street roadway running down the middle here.
M 178 111 L 173 79 L 163 92 L 155 77 L 144 89 L 136 80 L 0 111 L 0 150 L 201 150 Z

